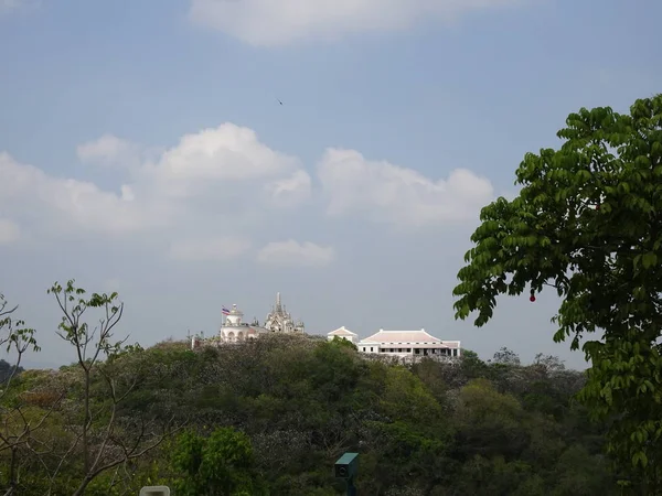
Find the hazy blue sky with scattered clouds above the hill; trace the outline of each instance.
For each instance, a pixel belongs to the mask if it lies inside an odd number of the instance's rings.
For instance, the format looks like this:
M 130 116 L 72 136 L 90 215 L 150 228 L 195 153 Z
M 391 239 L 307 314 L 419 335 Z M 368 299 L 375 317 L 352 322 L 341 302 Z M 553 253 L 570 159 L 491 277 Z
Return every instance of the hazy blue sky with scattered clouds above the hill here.
M 581 107 L 662 87 L 656 0 L 0 0 L 0 292 L 73 359 L 46 289 L 118 336 L 205 335 L 276 292 L 311 334 L 425 328 L 557 355 L 558 298 L 452 288 L 479 211 Z M 282 105 L 281 105 L 282 103 Z M 90 315 L 94 323 L 94 315 Z

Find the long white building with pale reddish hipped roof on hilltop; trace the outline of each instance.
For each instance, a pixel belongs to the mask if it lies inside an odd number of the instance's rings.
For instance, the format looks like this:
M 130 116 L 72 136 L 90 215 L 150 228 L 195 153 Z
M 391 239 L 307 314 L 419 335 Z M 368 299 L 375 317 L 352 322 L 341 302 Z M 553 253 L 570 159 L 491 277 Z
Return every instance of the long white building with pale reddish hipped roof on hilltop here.
M 384 331 L 381 328 L 378 333 L 361 339 L 356 346 L 361 353 L 399 358 L 424 356 L 456 358 L 461 353 L 459 341 L 441 341 L 428 334 L 424 328 L 420 331 Z

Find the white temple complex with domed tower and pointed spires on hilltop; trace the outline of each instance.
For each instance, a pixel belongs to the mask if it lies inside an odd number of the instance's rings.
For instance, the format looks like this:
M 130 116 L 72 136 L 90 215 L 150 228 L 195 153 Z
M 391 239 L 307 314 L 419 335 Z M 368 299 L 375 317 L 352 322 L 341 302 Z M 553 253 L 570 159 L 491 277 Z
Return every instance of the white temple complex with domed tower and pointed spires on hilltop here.
M 232 305 L 232 310 L 224 308 L 223 315 L 225 315 L 225 320 L 222 322 L 221 328 L 215 336 L 205 338 L 201 333 L 191 337 L 192 349 L 202 346 L 243 343 L 247 339 L 255 339 L 270 333 L 293 334 L 305 332 L 303 322 L 295 322 L 291 315 L 285 310 L 285 305 L 280 302 L 280 293 L 276 294 L 276 305 L 267 314 L 264 325 L 260 325 L 257 319 L 254 319 L 250 324 L 243 322 L 244 313 L 237 309 L 236 304 Z

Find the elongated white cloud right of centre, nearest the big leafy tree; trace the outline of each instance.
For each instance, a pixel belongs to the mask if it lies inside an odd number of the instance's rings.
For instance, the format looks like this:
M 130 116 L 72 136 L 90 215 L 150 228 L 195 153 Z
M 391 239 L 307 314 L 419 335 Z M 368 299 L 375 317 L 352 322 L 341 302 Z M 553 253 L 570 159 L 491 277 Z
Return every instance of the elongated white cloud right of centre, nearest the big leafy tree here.
M 466 169 L 434 181 L 412 169 L 366 160 L 355 150 L 328 149 L 318 165 L 328 214 L 363 214 L 403 228 L 474 218 L 493 198 L 489 180 Z

